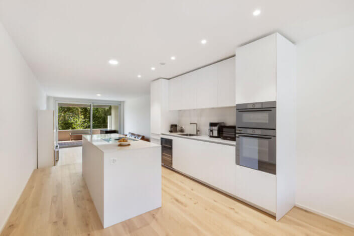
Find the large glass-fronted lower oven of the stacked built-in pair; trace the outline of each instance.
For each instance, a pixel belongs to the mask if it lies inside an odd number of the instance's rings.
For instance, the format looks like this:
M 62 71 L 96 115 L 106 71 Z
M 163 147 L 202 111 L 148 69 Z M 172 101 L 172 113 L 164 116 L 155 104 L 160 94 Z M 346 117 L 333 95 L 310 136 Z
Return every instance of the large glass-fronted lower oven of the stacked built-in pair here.
M 236 164 L 276 174 L 276 137 L 240 134 L 236 137 Z

